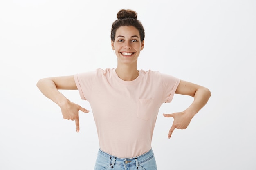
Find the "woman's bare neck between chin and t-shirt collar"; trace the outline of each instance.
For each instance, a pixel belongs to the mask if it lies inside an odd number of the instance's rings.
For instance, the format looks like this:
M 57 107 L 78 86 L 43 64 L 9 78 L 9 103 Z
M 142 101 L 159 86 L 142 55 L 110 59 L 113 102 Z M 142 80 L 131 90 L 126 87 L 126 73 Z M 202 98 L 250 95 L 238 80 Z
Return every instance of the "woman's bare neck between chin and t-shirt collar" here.
M 124 81 L 132 81 L 139 76 L 139 71 L 137 70 L 137 66 L 117 65 L 116 73 L 118 77 Z

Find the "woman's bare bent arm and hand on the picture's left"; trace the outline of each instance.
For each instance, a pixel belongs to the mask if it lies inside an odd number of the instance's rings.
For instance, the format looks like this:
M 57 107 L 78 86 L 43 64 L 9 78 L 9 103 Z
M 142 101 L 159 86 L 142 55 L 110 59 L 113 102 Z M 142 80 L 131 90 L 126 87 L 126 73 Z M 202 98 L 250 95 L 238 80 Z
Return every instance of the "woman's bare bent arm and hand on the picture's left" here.
M 58 89 L 77 90 L 74 76 L 44 78 L 40 79 L 36 85 L 43 95 L 60 106 L 64 119 L 75 120 L 76 132 L 79 132 L 78 111 L 81 110 L 85 113 L 88 113 L 89 111 L 73 102 L 70 102 L 58 91 Z

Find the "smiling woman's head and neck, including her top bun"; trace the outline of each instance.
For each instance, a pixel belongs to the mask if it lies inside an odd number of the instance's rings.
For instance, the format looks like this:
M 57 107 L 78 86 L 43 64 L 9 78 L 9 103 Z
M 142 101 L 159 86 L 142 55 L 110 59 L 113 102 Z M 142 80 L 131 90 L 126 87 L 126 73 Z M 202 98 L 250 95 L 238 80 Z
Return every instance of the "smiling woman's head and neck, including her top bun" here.
M 145 31 L 141 22 L 137 20 L 137 13 L 132 10 L 120 10 L 117 20 L 112 24 L 111 46 L 117 55 L 117 75 L 131 81 L 137 78 L 137 59 L 144 48 Z M 127 65 L 128 64 L 128 65 Z M 129 68 L 125 72 L 123 68 Z

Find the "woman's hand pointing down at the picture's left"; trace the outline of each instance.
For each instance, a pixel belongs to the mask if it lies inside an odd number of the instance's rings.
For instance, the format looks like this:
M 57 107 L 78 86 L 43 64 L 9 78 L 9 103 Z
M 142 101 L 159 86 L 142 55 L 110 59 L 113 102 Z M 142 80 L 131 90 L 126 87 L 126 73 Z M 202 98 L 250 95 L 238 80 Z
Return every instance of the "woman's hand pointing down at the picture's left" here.
M 65 102 L 65 104 L 62 104 L 60 107 L 61 107 L 61 112 L 62 112 L 63 118 L 75 121 L 76 122 L 76 132 L 79 132 L 78 111 L 81 110 L 84 113 L 88 113 L 89 110 L 86 110 L 85 108 L 82 108 L 78 104 L 70 102 L 69 100 L 67 100 L 67 102 Z

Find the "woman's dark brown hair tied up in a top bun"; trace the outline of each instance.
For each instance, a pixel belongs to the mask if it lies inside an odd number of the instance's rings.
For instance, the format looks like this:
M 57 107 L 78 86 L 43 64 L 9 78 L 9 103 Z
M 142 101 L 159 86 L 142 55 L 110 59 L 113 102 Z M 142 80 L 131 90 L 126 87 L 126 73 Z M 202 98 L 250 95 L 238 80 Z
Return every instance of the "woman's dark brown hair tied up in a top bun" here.
M 139 31 L 140 41 L 145 38 L 145 30 L 139 20 L 137 20 L 137 13 L 130 9 L 121 9 L 117 13 L 117 20 L 112 24 L 111 40 L 115 40 L 116 31 L 120 26 L 134 26 Z

